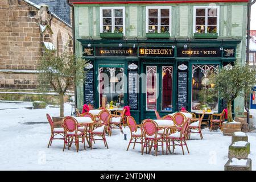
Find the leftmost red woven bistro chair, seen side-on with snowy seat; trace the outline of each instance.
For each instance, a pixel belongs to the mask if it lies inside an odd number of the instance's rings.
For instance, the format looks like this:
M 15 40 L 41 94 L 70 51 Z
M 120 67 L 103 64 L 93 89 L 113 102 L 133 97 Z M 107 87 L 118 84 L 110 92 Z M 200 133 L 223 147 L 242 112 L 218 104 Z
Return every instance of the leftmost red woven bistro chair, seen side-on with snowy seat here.
M 49 125 L 51 126 L 51 137 L 49 139 L 49 143 L 48 143 L 48 148 L 49 146 L 52 145 L 52 140 L 64 140 L 64 144 L 65 144 L 65 137 L 64 137 L 64 129 L 63 127 L 54 127 L 53 125 L 53 121 L 52 118 L 50 117 L 49 114 L 46 114 L 46 117 L 48 119 Z M 55 138 L 56 135 L 61 136 L 61 138 Z

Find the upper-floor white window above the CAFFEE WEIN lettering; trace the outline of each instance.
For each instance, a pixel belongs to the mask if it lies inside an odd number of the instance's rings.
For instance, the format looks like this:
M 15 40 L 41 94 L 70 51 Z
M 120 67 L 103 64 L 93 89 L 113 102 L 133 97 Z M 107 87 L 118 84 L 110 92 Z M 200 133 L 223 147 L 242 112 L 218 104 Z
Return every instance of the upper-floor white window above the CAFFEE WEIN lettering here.
M 195 6 L 193 32 L 218 34 L 219 9 L 219 6 Z

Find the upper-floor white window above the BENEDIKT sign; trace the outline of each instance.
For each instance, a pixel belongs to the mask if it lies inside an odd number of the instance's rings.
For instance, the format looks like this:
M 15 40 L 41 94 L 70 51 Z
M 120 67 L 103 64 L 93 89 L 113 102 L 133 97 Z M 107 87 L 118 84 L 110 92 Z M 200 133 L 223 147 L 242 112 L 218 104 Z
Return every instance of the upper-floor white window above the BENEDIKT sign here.
M 148 6 L 146 7 L 146 32 L 170 33 L 171 32 L 171 7 Z

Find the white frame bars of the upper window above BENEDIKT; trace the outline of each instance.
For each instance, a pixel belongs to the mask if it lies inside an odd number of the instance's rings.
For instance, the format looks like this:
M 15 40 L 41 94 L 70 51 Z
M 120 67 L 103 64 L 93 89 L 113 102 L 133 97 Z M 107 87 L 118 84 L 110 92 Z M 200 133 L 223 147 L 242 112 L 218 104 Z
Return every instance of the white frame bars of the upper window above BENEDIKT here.
M 146 6 L 146 33 L 148 33 L 148 10 L 158 9 L 158 34 L 161 33 L 161 9 L 169 9 L 169 34 L 172 34 L 172 6 Z M 160 16 L 159 16 L 160 15 Z

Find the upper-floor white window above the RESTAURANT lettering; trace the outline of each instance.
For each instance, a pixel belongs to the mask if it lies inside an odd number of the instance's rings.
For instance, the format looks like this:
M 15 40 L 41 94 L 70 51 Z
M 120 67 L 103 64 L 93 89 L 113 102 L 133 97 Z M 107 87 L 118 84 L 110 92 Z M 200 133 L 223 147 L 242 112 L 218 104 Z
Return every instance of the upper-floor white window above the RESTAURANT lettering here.
M 100 18 L 101 33 L 125 33 L 125 7 L 101 7 Z

